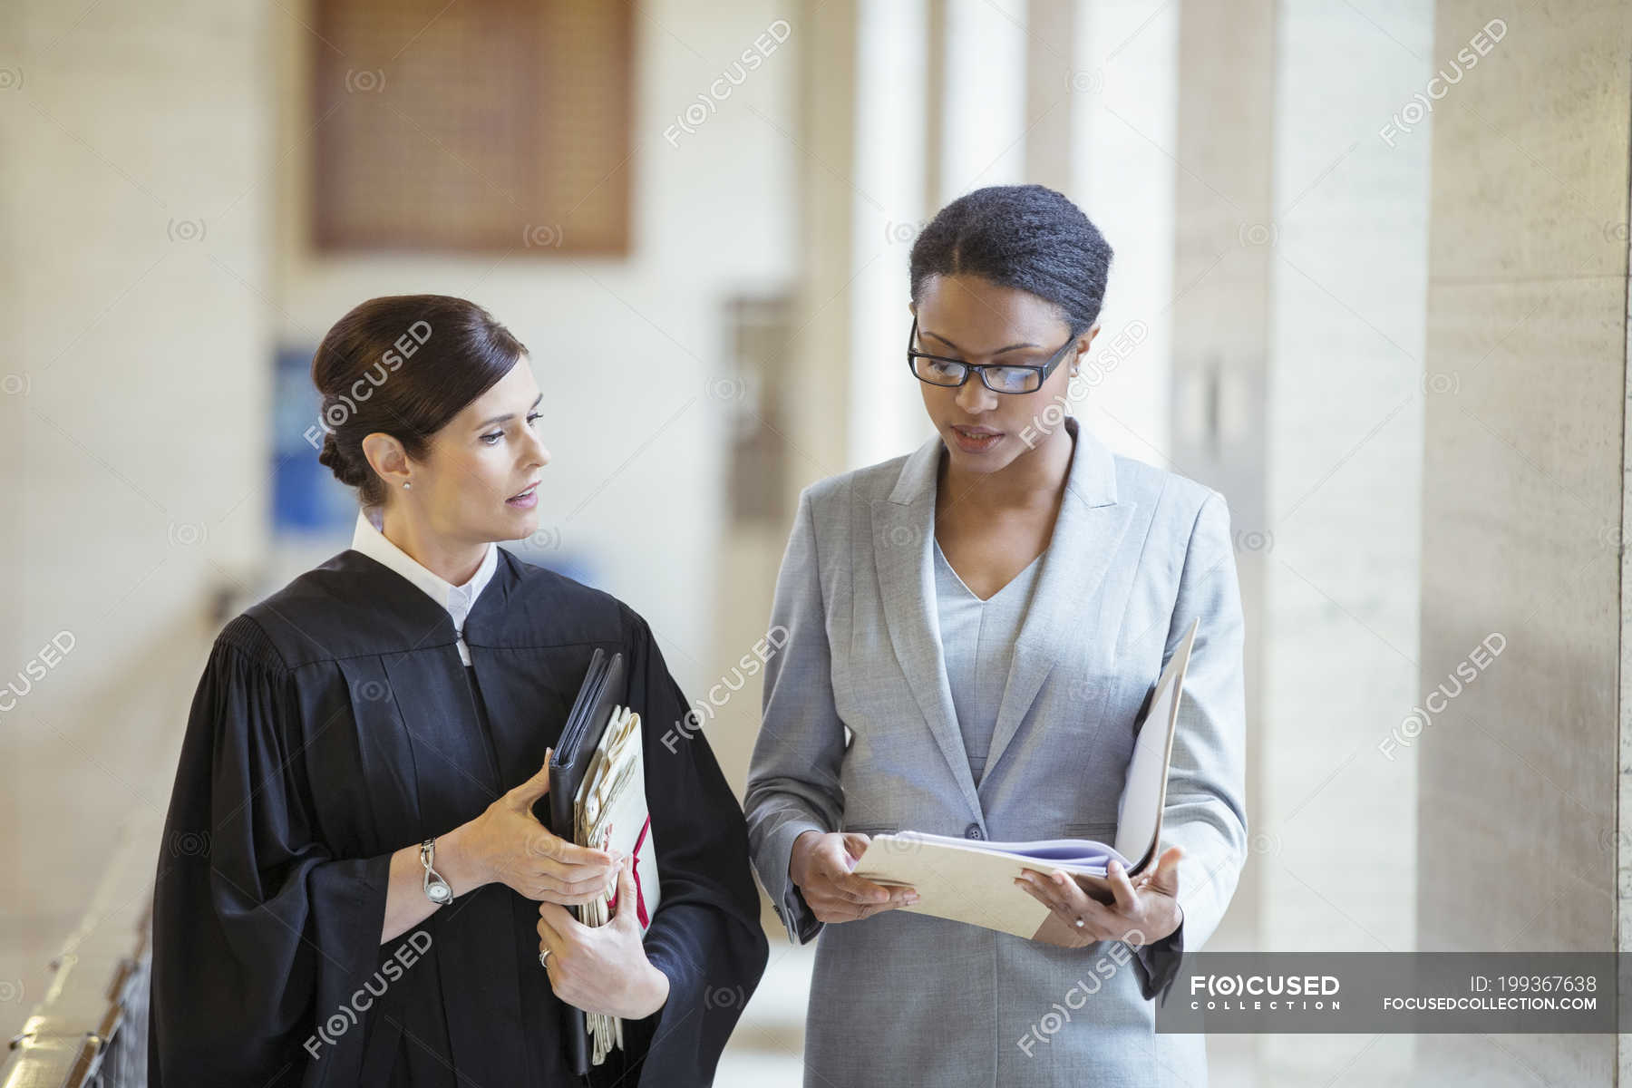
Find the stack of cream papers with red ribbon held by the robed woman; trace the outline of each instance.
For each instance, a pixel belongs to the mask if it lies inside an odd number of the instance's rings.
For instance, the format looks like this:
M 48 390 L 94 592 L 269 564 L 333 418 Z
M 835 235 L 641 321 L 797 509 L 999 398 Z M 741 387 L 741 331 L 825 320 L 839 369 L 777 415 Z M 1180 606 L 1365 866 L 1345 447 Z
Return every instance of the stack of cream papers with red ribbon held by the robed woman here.
M 614 910 L 632 910 L 645 933 L 658 909 L 658 850 L 651 840 L 651 814 L 646 811 L 646 770 L 640 741 L 640 714 L 619 706 L 596 745 L 583 786 L 573 799 L 578 827 L 576 840 L 599 850 L 615 850 L 635 860 L 635 902 L 617 902 L 617 874 L 601 899 L 578 907 L 584 925 L 605 925 Z M 623 1021 L 617 1016 L 589 1013 L 586 1018 L 596 1065 L 605 1062 L 614 1046 L 623 1046 Z

